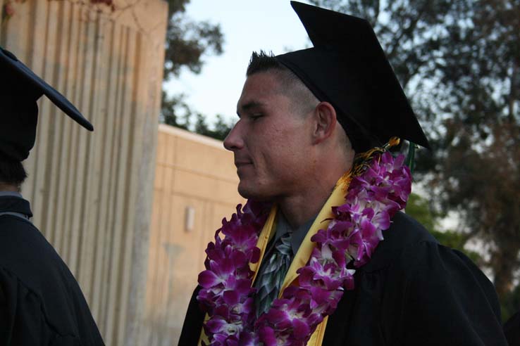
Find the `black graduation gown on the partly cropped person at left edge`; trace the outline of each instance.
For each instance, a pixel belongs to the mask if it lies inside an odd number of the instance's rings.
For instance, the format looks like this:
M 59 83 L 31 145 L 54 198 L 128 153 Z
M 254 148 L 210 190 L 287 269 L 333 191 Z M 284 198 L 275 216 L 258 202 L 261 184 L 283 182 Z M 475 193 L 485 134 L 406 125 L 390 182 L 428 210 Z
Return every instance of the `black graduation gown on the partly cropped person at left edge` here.
M 1 196 L 0 212 L 32 215 Z M 0 345 L 104 345 L 73 274 L 28 220 L 0 216 Z

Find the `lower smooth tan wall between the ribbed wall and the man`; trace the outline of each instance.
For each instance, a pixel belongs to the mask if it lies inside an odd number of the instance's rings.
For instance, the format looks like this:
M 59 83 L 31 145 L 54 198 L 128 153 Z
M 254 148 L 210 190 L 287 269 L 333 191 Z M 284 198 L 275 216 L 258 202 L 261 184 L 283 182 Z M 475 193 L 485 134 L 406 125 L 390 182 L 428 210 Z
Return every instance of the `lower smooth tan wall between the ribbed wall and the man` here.
M 221 141 L 159 126 L 140 345 L 177 345 L 204 249 L 243 202 L 237 183 L 233 153 Z M 194 213 L 191 229 L 187 210 Z

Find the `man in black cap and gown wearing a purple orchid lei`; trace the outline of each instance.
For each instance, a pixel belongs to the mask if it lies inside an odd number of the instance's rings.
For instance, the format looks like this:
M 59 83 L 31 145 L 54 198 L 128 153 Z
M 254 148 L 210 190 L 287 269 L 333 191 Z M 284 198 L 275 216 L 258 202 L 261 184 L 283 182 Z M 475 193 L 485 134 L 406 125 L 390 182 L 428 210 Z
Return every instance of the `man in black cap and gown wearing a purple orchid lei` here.
M 240 120 L 224 141 L 235 154 L 240 194 L 273 207 L 267 219 L 256 218 L 252 204 L 223 222 L 225 238 L 217 235 L 206 250 L 207 270 L 199 275 L 179 345 L 507 345 L 488 278 L 397 212 L 404 205 L 395 201 L 409 193 L 409 171 L 384 149 L 371 148 L 392 145 L 392 136 L 425 147 L 428 141 L 370 25 L 292 6 L 314 47 L 276 57 L 253 53 L 237 104 Z M 385 165 L 395 169 L 378 176 Z M 399 182 L 383 191 L 371 185 L 371 174 Z M 359 200 L 369 198 L 370 188 L 374 199 L 363 206 Z M 395 199 L 379 198 L 383 192 Z M 353 240 L 358 229 L 330 236 L 356 217 L 363 224 L 378 208 L 396 212 L 378 214 L 390 215 L 391 224 L 371 219 L 386 226 L 372 229 L 376 236 L 363 238 L 366 243 Z M 263 225 L 260 251 L 247 248 L 252 274 L 243 274 L 247 269 L 236 263 L 244 253 L 235 243 L 244 247 L 249 240 L 238 230 L 249 234 L 256 223 Z M 349 245 L 341 248 L 342 242 Z M 361 252 L 363 246 L 369 250 Z M 309 276 L 312 267 L 318 269 Z M 243 287 L 246 280 L 254 291 Z

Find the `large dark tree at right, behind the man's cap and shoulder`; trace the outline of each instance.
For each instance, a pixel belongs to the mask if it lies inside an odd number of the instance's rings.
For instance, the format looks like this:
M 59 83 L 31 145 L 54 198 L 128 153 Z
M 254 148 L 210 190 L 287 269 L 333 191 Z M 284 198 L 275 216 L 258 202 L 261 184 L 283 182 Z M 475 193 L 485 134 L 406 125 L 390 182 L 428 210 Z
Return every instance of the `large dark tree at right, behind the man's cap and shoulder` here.
M 374 27 L 431 141 L 416 177 L 487 245 L 499 295 L 520 251 L 520 0 L 312 0 Z

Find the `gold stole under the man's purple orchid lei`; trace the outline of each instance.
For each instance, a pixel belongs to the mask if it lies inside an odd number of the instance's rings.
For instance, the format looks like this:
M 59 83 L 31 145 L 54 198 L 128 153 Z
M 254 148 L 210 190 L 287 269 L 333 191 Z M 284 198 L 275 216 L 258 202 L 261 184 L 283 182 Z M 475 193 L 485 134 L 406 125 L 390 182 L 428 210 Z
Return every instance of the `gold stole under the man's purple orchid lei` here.
M 345 191 L 347 191 L 348 184 L 349 175 L 345 174 L 338 181 L 338 184 L 336 184 L 333 193 L 330 194 L 330 197 L 328 198 L 327 202 L 321 208 L 321 211 L 319 212 L 318 216 L 314 220 L 314 223 L 307 232 L 307 236 L 305 236 L 302 245 L 300 245 L 298 252 L 295 255 L 295 258 L 292 259 L 291 265 L 289 267 L 289 270 L 287 270 L 287 274 L 285 275 L 285 280 L 283 281 L 283 285 L 280 289 L 280 294 L 278 295 L 278 297 L 281 297 L 285 288 L 297 281 L 296 279 L 298 277 L 298 274 L 296 273 L 296 271 L 307 264 L 309 258 L 311 257 L 312 250 L 314 249 L 314 246 L 316 246 L 316 243 L 311 242 L 312 236 L 314 236 L 314 234 L 316 234 L 316 232 L 318 232 L 320 229 L 327 229 L 330 219 L 333 217 L 331 208 L 345 203 Z M 249 268 L 251 268 L 251 270 L 254 271 L 252 282 L 254 282 L 256 274 L 258 273 L 258 270 L 260 268 L 261 261 L 262 259 L 264 259 L 267 243 L 276 233 L 275 221 L 277 211 L 278 207 L 276 207 L 276 205 L 273 205 L 273 207 L 271 208 L 271 212 L 269 213 L 269 216 L 267 218 L 266 224 L 264 224 L 264 228 L 260 232 L 258 241 L 256 242 L 256 246 L 260 249 L 260 259 L 256 263 L 249 263 Z M 209 316 L 206 314 L 206 318 L 204 319 L 204 321 L 207 321 L 208 319 Z M 316 331 L 312 333 L 309 342 L 307 342 L 307 346 L 321 346 L 321 343 L 323 342 L 323 336 L 325 335 L 327 321 L 328 316 L 326 316 L 325 319 L 323 319 L 323 321 L 320 324 L 318 324 L 318 327 L 316 327 Z M 206 334 L 204 333 L 204 328 L 201 331 L 198 345 L 202 345 L 202 340 L 204 340 L 206 344 L 209 344 L 209 340 Z

